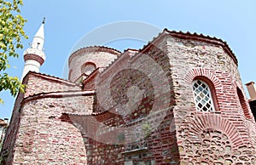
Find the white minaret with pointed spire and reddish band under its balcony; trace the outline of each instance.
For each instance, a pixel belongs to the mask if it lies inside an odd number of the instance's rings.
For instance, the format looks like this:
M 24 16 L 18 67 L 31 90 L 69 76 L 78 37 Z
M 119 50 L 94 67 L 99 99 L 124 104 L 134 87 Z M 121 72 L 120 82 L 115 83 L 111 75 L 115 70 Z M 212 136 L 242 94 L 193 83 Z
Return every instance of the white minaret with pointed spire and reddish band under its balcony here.
M 45 60 L 45 54 L 44 54 L 44 21 L 42 22 L 42 25 L 38 29 L 38 32 L 33 37 L 32 46 L 31 48 L 27 48 L 24 51 L 24 70 L 22 73 L 21 80 L 23 77 L 26 76 L 28 71 L 36 71 L 39 72 L 40 66 L 43 65 Z

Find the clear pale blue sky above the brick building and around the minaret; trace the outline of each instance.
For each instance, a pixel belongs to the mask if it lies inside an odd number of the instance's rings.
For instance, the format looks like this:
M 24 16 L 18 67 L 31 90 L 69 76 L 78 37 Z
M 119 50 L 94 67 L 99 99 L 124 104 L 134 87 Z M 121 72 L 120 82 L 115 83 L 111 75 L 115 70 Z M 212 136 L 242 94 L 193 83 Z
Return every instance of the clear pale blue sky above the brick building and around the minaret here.
M 10 59 L 9 74 L 21 77 L 23 51 L 29 47 L 43 17 L 45 54 L 42 73 L 64 77 L 63 68 L 75 43 L 81 37 L 103 26 L 123 20 L 142 21 L 160 29 L 190 31 L 218 37 L 229 43 L 239 61 L 243 83 L 256 81 L 256 1 L 255 0 L 158 0 L 158 1 L 90 1 L 90 0 L 24 0 L 21 14 L 26 18 L 26 34 L 20 58 Z M 118 43 L 119 42 L 119 43 Z M 117 41 L 114 48 L 142 48 L 144 43 Z M 66 78 L 66 77 L 64 77 Z M 0 117 L 11 117 L 15 99 L 1 92 L 5 101 Z

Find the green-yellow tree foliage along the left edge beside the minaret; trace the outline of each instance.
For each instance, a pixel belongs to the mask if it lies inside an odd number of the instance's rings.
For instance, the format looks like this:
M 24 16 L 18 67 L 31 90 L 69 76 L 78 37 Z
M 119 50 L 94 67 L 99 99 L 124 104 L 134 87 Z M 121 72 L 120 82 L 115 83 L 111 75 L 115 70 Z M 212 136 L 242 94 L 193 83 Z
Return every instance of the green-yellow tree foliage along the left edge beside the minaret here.
M 23 30 L 26 20 L 20 15 L 20 5 L 22 0 L 13 0 L 12 3 L 0 0 L 0 92 L 9 89 L 13 96 L 25 88 L 18 77 L 10 77 L 6 73 L 10 67 L 9 57 L 19 57 L 16 49 L 23 48 L 23 37 L 27 39 Z M 0 103 L 3 103 L 2 99 Z

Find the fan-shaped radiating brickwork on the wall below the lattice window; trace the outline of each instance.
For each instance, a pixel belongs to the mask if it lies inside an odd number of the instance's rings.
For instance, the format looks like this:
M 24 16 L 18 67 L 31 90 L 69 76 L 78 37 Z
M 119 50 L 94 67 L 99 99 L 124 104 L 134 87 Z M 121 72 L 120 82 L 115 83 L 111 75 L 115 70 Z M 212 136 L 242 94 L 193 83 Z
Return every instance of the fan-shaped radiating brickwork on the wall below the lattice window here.
M 232 123 L 215 114 L 188 117 L 179 129 L 179 151 L 185 164 L 256 163 L 253 145 L 247 145 Z

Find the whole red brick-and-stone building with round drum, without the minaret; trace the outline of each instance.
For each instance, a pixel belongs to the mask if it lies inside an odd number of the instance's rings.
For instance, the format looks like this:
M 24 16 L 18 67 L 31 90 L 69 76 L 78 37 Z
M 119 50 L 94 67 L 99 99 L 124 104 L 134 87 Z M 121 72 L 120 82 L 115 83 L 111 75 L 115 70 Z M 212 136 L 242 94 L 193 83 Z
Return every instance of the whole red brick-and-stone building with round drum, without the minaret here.
M 82 48 L 69 66 L 70 81 L 26 75 L 6 164 L 256 164 L 256 124 L 222 40 L 164 30 L 122 54 Z M 215 111 L 197 111 L 195 80 Z

